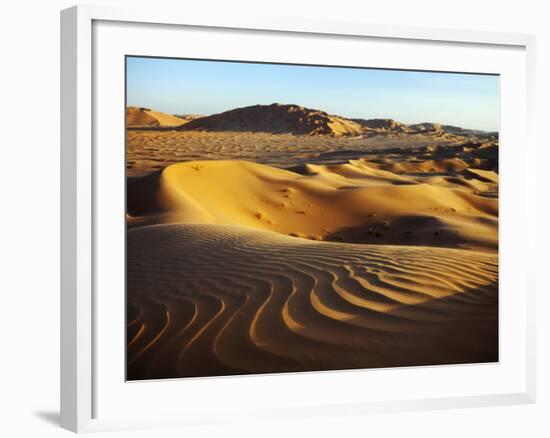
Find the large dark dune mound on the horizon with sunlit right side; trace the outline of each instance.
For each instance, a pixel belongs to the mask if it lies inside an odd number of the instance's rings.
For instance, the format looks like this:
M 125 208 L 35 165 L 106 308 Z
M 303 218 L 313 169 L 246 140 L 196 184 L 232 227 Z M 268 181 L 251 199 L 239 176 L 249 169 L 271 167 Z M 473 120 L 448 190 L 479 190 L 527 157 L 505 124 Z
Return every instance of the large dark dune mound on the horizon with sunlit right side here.
M 254 105 L 191 121 L 184 131 L 269 132 L 295 135 L 360 135 L 361 125 L 298 105 Z

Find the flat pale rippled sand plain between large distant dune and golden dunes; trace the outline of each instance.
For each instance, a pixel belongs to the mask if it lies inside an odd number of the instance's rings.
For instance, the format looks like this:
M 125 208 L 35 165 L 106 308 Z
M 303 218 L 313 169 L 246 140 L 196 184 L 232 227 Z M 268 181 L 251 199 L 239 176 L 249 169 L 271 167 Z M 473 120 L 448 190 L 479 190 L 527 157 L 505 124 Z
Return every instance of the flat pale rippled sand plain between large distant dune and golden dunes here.
M 127 131 L 127 172 L 140 175 L 170 164 L 192 160 L 249 160 L 287 168 L 300 164 L 341 163 L 371 155 L 401 160 L 396 148 L 419 148 L 422 155 L 434 145 L 457 145 L 463 137 L 426 135 L 330 137 L 250 132 Z M 389 150 L 387 150 L 390 148 Z M 386 149 L 384 151 L 384 149 Z M 392 154 L 393 151 L 393 154 Z M 381 155 L 378 155 L 381 152 Z M 448 153 L 449 151 L 447 151 Z M 460 155 L 460 152 L 453 154 Z

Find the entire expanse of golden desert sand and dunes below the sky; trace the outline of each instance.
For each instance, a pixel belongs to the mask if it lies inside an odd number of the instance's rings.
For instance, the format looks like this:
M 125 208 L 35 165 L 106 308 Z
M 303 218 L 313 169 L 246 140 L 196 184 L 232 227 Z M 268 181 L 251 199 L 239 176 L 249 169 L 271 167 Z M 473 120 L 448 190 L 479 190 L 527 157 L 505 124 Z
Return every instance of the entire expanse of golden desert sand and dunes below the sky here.
M 496 133 L 190 120 L 127 131 L 128 379 L 498 360 Z

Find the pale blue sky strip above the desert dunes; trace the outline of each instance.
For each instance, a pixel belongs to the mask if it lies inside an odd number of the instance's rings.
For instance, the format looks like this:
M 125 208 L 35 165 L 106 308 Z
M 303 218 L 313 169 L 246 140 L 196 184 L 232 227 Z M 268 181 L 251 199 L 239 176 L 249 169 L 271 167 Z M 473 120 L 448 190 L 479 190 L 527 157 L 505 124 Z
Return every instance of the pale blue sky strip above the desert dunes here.
M 498 76 L 127 58 L 127 105 L 210 115 L 293 103 L 349 118 L 499 129 Z

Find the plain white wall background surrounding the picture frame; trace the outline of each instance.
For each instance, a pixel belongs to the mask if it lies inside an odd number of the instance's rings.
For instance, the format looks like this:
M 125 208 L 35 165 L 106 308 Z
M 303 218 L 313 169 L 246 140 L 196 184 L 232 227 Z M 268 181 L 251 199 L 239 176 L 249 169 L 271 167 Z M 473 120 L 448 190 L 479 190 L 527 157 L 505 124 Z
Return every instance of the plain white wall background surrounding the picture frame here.
M 107 436 L 399 437 L 550 436 L 550 213 L 545 178 L 550 99 L 550 27 L 546 2 L 480 0 L 96 1 L 233 14 L 536 33 L 539 227 L 538 402 L 496 407 L 312 419 L 267 427 L 117 432 Z M 69 436 L 59 404 L 59 10 L 66 0 L 5 2 L 0 14 L 0 435 Z M 521 153 L 521 144 L 517 145 Z

